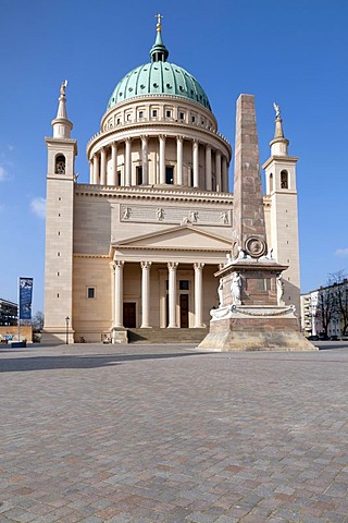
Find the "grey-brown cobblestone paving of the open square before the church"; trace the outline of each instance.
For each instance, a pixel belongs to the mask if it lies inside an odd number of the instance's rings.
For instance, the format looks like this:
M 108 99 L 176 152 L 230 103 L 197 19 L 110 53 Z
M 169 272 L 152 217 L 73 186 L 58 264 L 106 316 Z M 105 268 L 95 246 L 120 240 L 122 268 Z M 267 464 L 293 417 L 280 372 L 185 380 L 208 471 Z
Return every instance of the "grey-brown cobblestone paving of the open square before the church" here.
M 348 522 L 348 348 L 0 349 L 0 522 Z

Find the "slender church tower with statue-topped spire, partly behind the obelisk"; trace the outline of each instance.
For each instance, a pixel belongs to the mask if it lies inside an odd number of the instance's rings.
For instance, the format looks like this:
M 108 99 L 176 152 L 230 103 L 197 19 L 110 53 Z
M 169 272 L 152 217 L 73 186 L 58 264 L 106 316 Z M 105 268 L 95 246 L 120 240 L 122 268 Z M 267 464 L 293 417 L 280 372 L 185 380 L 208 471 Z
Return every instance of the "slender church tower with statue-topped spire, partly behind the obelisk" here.
M 274 257 L 288 265 L 283 275 L 284 302 L 300 311 L 300 267 L 298 240 L 298 209 L 296 163 L 298 158 L 288 155 L 289 141 L 284 135 L 279 107 L 274 104 L 275 130 L 270 142 L 271 156 L 262 168 L 265 171 L 269 236 Z

